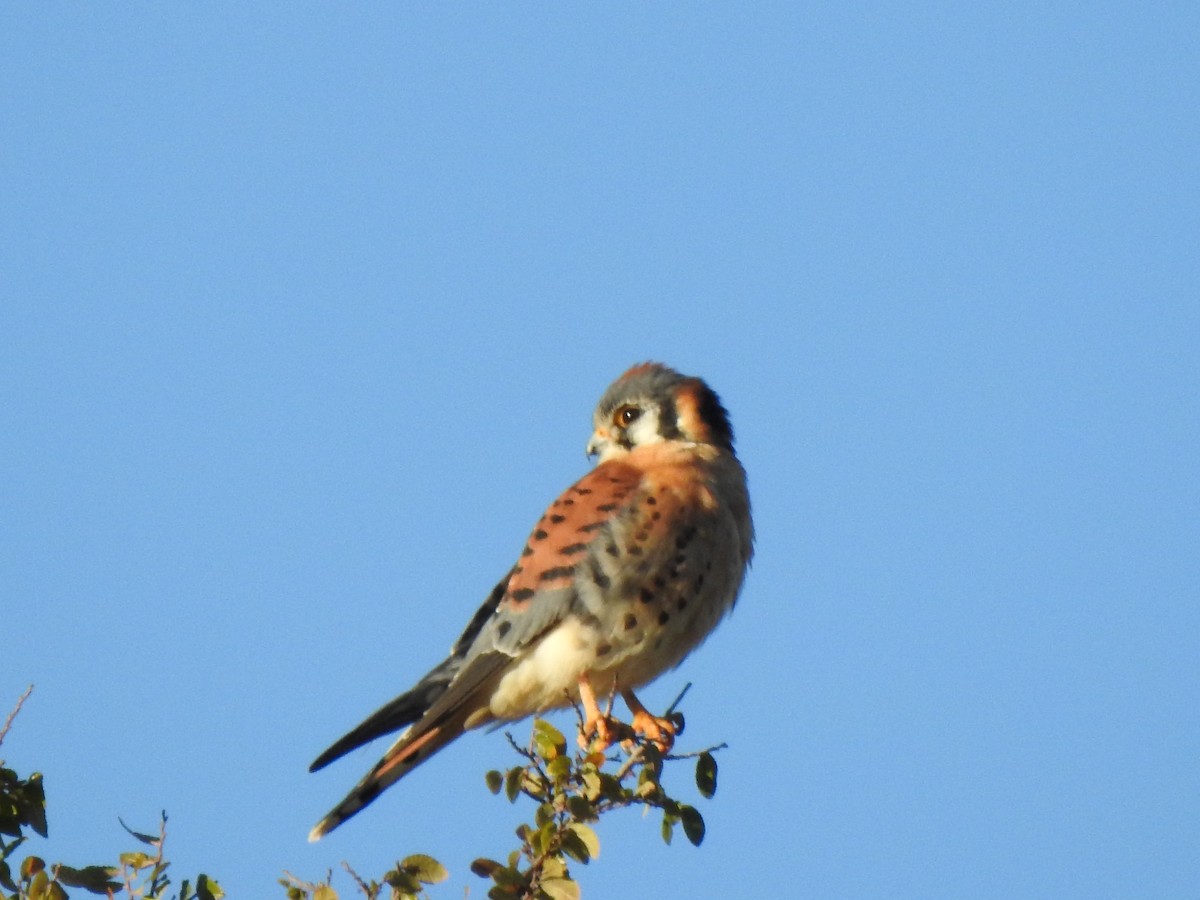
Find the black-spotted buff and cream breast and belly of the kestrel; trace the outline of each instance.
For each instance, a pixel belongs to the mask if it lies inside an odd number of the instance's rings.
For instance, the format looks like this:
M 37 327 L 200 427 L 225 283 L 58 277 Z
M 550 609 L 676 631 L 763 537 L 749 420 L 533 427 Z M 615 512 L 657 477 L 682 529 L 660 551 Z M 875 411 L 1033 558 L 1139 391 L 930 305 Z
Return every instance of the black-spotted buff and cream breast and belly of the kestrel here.
M 516 662 L 492 710 L 523 715 L 577 696 L 637 688 L 678 665 L 732 606 L 745 569 L 720 480 L 683 467 L 643 479 L 572 570 L 571 612 Z

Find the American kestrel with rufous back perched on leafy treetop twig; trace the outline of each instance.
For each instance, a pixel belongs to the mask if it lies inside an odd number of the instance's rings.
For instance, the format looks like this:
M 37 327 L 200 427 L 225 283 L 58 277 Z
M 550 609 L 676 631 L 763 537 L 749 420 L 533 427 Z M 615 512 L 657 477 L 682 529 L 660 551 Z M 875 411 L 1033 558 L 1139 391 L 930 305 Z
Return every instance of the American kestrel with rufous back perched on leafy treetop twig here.
M 619 728 L 596 695 L 620 691 L 632 727 L 674 727 L 634 689 L 678 665 L 728 612 L 754 545 L 745 472 L 716 394 L 656 362 L 600 398 L 599 461 L 538 520 L 450 655 L 317 757 L 311 772 L 408 726 L 312 829 L 318 840 L 470 728 L 580 703 L 581 742 Z

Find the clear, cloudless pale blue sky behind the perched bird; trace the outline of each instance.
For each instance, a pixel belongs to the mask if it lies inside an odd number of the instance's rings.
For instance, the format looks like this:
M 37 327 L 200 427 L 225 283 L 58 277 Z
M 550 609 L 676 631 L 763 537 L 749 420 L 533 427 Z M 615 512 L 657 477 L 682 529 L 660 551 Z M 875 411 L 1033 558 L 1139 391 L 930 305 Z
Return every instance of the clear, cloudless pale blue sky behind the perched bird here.
M 314 846 L 382 745 L 306 767 L 440 659 L 658 359 L 728 406 L 760 540 L 647 691 L 694 682 L 684 745 L 730 744 L 708 839 L 605 822 L 587 896 L 1195 895 L 1198 26 L 6 7 L 0 707 L 37 685 L 2 749 L 46 772 L 34 847 L 113 859 L 166 809 L 176 875 L 234 896 L 413 851 L 482 895 L 502 736 Z

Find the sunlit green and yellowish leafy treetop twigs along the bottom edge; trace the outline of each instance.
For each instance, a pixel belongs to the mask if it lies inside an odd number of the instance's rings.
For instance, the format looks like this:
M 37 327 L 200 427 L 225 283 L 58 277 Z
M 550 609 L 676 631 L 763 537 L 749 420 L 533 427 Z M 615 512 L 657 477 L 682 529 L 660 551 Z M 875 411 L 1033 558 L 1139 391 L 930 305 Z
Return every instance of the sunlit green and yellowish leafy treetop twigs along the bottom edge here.
M 29 692 L 26 690 L 20 697 L 0 730 L 0 744 Z M 683 716 L 676 713 L 673 719 L 682 731 Z M 520 762 L 504 772 L 488 772 L 486 785 L 492 793 L 503 793 L 510 803 L 521 798 L 532 800 L 534 810 L 532 821 L 516 829 L 520 846 L 503 860 L 481 857 L 470 864 L 475 875 L 488 880 L 488 898 L 575 900 L 580 896 L 580 886 L 571 875 L 571 865 L 586 865 L 600 854 L 600 839 L 593 824 L 605 814 L 626 806 L 661 812 L 660 833 L 667 844 L 678 826 L 691 844 L 700 846 L 704 839 L 704 820 L 694 806 L 666 792 L 662 772 L 667 762 L 695 760 L 696 786 L 701 796 L 709 798 L 716 791 L 713 751 L 720 748 L 664 756 L 654 743 L 628 730 L 624 733 L 629 739 L 613 752 L 594 744 L 568 752 L 563 733 L 541 719 L 534 720 L 527 746 L 508 736 Z M 172 881 L 163 852 L 166 812 L 157 834 L 134 832 L 124 822 L 121 826 L 145 848 L 121 853 L 116 865 L 47 865 L 36 856 L 28 856 L 18 864 L 14 854 L 26 840 L 25 829 L 47 836 L 46 793 L 40 773 L 20 778 L 14 770 L 4 768 L 4 760 L 0 760 L 0 900 L 65 900 L 70 896 L 68 888 L 114 900 L 221 900 L 224 896 L 221 886 L 203 874 L 184 880 L 178 893 L 168 893 Z M 342 865 L 367 900 L 427 899 L 428 886 L 449 878 L 442 863 L 421 853 L 404 857 L 379 880 L 365 880 L 348 864 Z M 319 882 L 306 882 L 284 872 L 280 883 L 288 900 L 338 900 L 331 872 Z

